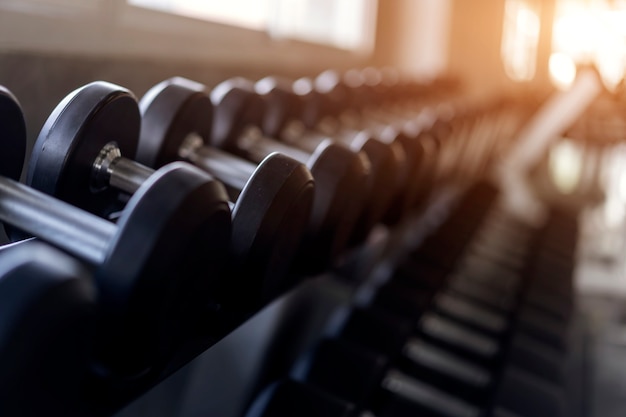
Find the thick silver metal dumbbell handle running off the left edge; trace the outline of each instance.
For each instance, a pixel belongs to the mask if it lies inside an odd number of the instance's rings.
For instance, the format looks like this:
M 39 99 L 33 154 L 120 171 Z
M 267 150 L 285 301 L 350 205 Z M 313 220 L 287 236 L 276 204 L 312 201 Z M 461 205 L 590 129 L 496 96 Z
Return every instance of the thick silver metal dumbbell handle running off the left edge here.
M 0 178 L 0 220 L 99 265 L 117 226 L 8 178 Z

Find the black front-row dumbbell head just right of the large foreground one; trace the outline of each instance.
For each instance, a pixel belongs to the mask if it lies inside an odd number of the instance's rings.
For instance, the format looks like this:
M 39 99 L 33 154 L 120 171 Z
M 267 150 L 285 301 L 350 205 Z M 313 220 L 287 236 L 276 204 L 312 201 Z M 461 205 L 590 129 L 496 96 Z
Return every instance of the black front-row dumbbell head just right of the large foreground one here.
M 239 194 L 233 209 L 232 252 L 239 271 L 237 291 L 268 301 L 285 289 L 288 267 L 308 227 L 314 183 L 306 167 L 279 153 L 268 155 Z M 260 275 L 262 279 L 260 279 Z

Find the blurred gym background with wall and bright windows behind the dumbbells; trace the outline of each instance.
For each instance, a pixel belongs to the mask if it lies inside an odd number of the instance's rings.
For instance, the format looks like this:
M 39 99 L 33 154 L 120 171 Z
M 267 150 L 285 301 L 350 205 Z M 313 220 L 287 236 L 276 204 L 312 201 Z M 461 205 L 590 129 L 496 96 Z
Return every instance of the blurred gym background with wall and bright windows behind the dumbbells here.
M 477 99 L 541 98 L 500 178 L 512 195 L 522 188 L 513 210 L 584 208 L 589 409 L 623 415 L 626 1 L 0 0 L 0 83 L 20 99 L 31 145 L 56 103 L 94 80 L 140 97 L 175 75 L 213 86 L 366 66 L 459 80 Z

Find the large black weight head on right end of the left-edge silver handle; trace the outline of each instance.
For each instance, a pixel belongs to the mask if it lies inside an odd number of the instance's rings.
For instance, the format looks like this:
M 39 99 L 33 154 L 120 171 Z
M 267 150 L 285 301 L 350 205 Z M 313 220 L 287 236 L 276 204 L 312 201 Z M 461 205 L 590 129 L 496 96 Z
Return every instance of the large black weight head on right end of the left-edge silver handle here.
M 111 363 L 127 359 L 128 369 L 144 371 L 190 327 L 210 332 L 228 259 L 227 201 L 221 183 L 183 162 L 157 170 L 131 197 L 96 272 L 105 323 L 125 325 L 106 333 L 127 343 L 98 342 Z

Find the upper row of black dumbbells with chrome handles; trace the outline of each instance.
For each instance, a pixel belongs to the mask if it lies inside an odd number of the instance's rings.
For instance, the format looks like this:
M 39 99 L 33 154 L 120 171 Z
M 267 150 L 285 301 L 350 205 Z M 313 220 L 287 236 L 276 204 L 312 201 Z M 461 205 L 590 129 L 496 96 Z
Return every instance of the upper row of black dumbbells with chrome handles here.
M 469 157 L 475 115 L 438 123 L 426 94 L 349 112 L 344 81 L 208 91 L 173 78 L 139 102 L 91 83 L 51 113 L 26 184 L 24 116 L 2 89 L 0 219 L 13 240 L 38 239 L 0 253 L 0 407 L 70 415 L 77 392 L 128 401 L 375 224 L 399 222 L 436 181 L 484 164 L 511 126 Z

